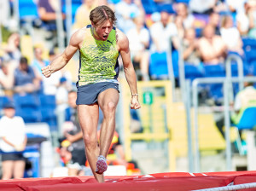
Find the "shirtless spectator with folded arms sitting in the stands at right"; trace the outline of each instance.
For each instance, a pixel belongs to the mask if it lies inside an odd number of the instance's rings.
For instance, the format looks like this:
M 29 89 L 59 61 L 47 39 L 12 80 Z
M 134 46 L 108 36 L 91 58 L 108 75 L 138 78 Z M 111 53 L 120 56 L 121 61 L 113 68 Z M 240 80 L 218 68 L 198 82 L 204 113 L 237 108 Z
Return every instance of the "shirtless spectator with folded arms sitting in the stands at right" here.
M 227 53 L 223 39 L 215 35 L 213 26 L 207 25 L 203 30 L 203 36 L 199 39 L 199 52 L 205 64 L 223 63 Z

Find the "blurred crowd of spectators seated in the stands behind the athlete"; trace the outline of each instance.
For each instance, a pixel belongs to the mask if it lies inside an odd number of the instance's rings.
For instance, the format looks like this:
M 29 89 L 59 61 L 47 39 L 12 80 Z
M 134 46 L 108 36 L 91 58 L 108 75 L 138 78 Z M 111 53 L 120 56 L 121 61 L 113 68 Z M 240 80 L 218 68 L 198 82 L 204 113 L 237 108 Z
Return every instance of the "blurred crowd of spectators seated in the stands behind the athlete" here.
M 62 5 L 59 4 L 62 3 Z M 17 27 L 21 23 L 15 20 L 15 1 L 1 0 L 0 24 L 3 31 L 9 33 L 0 46 L 0 96 L 49 95 L 55 96 L 58 111 L 68 107 L 67 96 L 73 90 L 72 74 L 62 69 L 50 78 L 44 78 L 41 68 L 49 65 L 58 53 L 56 19 L 58 12 L 64 24 L 64 32 L 75 32 L 90 25 L 90 10 L 98 4 L 111 7 L 117 16 L 119 30 L 125 32 L 130 41 L 131 60 L 137 71 L 138 80 L 168 78 L 167 66 L 164 71 L 155 73 L 160 65 L 166 64 L 166 53 L 182 56 L 185 66 L 198 68 L 203 76 L 203 67 L 224 65 L 230 53 L 241 56 L 246 74 L 255 75 L 256 64 L 247 63 L 245 39 L 256 42 L 256 1 L 254 0 L 73 0 L 73 26 L 67 29 L 65 20 L 65 0 L 23 0 L 22 3 L 34 3 L 37 8 L 32 26 L 42 31 L 43 42 L 32 44 L 33 54 L 26 57 L 20 49 L 22 38 Z M 62 9 L 61 9 L 62 8 Z M 39 21 L 38 21 L 39 20 Z M 14 24 L 15 23 L 15 24 Z M 21 25 L 22 27 L 22 25 Z M 2 32 L 3 33 L 3 32 Z M 29 33 L 29 32 L 28 32 Z M 34 38 L 34 37 L 32 37 Z M 68 42 L 66 37 L 66 42 Z M 45 47 L 48 42 L 50 47 Z M 42 45 L 43 44 L 43 45 Z M 66 43 L 67 45 L 67 43 Z M 256 47 L 256 45 L 255 45 Z M 57 49 L 57 50 L 56 50 Z M 172 54 L 173 58 L 175 55 Z M 177 61 L 177 60 L 176 60 Z M 172 59 L 177 74 L 177 63 Z M 254 68 L 254 69 L 252 69 Z M 254 73 L 253 73 L 254 72 Z M 167 76 L 167 77 L 166 77 Z M 1 115 L 0 115 L 1 116 Z M 58 125 L 63 123 L 61 114 Z M 39 119 L 40 121 L 41 119 Z M 32 122 L 39 122 L 32 121 Z M 30 122 L 29 120 L 25 122 Z M 60 128 L 60 127 L 59 127 Z

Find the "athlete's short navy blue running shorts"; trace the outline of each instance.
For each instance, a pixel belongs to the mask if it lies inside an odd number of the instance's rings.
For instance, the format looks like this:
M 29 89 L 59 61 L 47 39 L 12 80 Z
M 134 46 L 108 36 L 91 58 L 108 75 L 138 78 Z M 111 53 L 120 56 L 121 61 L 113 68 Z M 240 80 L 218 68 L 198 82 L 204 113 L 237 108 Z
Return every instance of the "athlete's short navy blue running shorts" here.
M 77 105 L 90 105 L 98 101 L 102 91 L 113 88 L 119 92 L 119 84 L 113 82 L 100 82 L 78 86 Z

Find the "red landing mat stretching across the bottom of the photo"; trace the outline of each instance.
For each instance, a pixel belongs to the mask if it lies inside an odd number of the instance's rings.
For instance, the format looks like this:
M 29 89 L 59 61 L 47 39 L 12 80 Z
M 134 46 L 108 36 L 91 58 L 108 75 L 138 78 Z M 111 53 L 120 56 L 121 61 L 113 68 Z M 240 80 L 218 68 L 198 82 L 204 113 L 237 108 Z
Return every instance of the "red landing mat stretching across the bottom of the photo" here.
M 93 177 L 52 177 L 23 178 L 0 181 L 0 190 L 26 191 L 88 191 L 88 190 L 121 190 L 121 191 L 188 191 L 205 188 L 218 188 L 227 185 L 256 182 L 256 171 L 230 172 L 170 172 L 145 176 L 106 177 L 105 183 L 97 183 Z M 219 189 L 221 190 L 221 189 Z M 223 189 L 224 190 L 224 189 Z M 233 190 L 233 189 L 225 189 Z M 240 189 L 245 191 L 256 188 Z

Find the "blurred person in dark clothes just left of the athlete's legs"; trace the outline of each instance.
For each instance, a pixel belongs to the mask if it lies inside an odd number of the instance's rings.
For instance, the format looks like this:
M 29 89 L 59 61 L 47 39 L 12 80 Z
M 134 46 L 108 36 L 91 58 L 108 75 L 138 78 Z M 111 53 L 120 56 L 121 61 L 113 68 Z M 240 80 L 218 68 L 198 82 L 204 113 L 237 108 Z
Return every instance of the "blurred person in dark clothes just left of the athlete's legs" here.
M 67 119 L 62 126 L 63 135 L 66 137 L 68 142 L 71 142 L 71 146 L 69 148 L 72 153 L 72 159 L 67 165 L 69 176 L 84 174 L 83 168 L 86 162 L 84 139 L 79 124 L 76 100 L 77 92 L 74 90 L 70 91 L 68 93 L 68 104 L 70 106 L 68 110 L 71 111 L 72 115 L 71 118 Z

